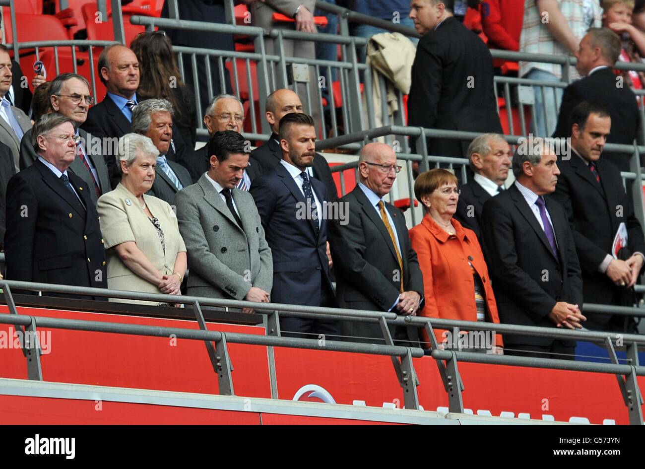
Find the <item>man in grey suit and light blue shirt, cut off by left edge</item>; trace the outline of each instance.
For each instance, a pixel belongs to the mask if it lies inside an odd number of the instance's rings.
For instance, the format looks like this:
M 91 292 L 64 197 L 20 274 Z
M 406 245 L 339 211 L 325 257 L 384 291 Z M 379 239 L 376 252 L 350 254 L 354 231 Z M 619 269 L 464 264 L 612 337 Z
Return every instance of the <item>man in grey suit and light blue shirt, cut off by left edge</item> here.
M 0 143 L 9 147 L 16 171 L 20 168 L 20 141 L 25 132 L 32 128 L 32 121 L 7 99 L 12 86 L 12 60 L 9 50 L 0 44 Z

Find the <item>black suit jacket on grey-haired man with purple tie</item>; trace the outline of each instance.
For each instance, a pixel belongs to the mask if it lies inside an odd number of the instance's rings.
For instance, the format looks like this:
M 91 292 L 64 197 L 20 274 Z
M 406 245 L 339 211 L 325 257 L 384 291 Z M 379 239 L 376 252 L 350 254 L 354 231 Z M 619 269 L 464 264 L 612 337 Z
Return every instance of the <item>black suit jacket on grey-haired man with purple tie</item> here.
M 490 266 L 501 323 L 555 328 L 548 317 L 555 303 L 566 301 L 582 310 L 580 264 L 566 213 L 549 198 L 546 210 L 555 232 L 558 259 L 515 184 L 484 204 L 481 226 L 484 255 Z M 507 345 L 548 346 L 553 340 L 504 334 Z

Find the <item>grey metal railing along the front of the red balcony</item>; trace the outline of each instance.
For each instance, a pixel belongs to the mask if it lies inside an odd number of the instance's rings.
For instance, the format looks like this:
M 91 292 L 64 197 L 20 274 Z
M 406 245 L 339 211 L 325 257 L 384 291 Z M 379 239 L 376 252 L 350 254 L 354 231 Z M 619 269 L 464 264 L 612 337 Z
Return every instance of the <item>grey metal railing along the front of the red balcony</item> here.
M 28 379 L 41 380 L 43 372 L 40 362 L 41 351 L 37 344 L 37 327 L 86 330 L 94 332 L 111 332 L 116 334 L 149 335 L 154 337 L 175 337 L 204 341 L 206 351 L 209 355 L 213 372 L 219 381 L 219 393 L 233 395 L 232 363 L 228 355 L 227 343 L 253 344 L 268 347 L 268 366 L 272 388 L 272 397 L 277 398 L 277 377 L 275 374 L 275 361 L 273 358 L 273 347 L 306 348 L 312 350 L 330 350 L 335 352 L 353 352 L 360 354 L 389 355 L 399 384 L 403 388 L 405 408 L 419 408 L 419 397 L 417 386 L 419 381 L 412 362 L 413 358 L 424 355 L 421 348 L 409 346 L 396 346 L 390 335 L 388 324 L 395 326 L 413 326 L 422 328 L 430 338 L 430 350 L 435 359 L 437 368 L 441 375 L 444 388 L 448 393 L 448 401 L 451 412 L 463 412 L 462 390 L 464 384 L 459 375 L 458 361 L 486 364 L 504 364 L 510 366 L 528 366 L 534 368 L 550 368 L 555 370 L 571 370 L 595 372 L 604 374 L 615 374 L 619 383 L 620 392 L 624 403 L 628 407 L 630 423 L 642 424 L 643 404 L 642 396 L 638 386 L 637 376 L 645 376 L 645 366 L 640 366 L 638 350 L 639 345 L 645 344 L 645 336 L 633 334 L 621 334 L 620 341 L 626 346 L 628 363 L 619 364 L 613 341 L 617 339 L 615 334 L 608 332 L 591 332 L 579 330 L 557 330 L 553 328 L 541 328 L 530 326 L 518 326 L 514 324 L 493 324 L 473 321 L 457 321 L 449 319 L 430 319 L 427 317 L 402 317 L 392 312 L 373 312 L 361 310 L 347 310 L 340 308 L 317 308 L 314 306 L 299 306 L 292 304 L 273 303 L 252 303 L 248 301 L 236 301 L 228 299 L 212 299 L 204 297 L 190 297 L 164 294 L 147 294 L 140 292 L 124 292 L 120 290 L 106 290 L 103 288 L 84 288 L 69 285 L 55 285 L 42 283 L 28 283 L 19 281 L 0 281 L 0 288 L 3 289 L 6 304 L 10 314 L 0 314 L 0 323 L 24 326 L 25 332 L 29 331 L 36 337 L 35 348 L 24 348 L 26 357 Z M 103 321 L 81 321 L 73 319 L 59 319 L 51 317 L 39 317 L 34 315 L 21 315 L 16 308 L 12 288 L 16 290 L 32 290 L 41 292 L 56 292 L 63 294 L 78 294 L 98 297 L 113 297 L 121 299 L 135 299 L 144 301 L 158 301 L 163 303 L 190 304 L 193 308 L 195 319 L 200 330 L 184 328 L 166 328 L 159 326 L 143 326 L 137 324 L 106 323 Z M 97 303 L 98 304 L 98 303 Z M 219 306 L 221 308 L 255 308 L 261 314 L 266 314 L 266 334 L 258 336 L 252 334 L 235 334 L 229 332 L 209 331 L 202 314 L 201 306 Z M 308 317 L 311 319 L 337 319 L 351 321 L 368 321 L 379 323 L 385 344 L 360 344 L 339 341 L 319 341 L 317 339 L 295 339 L 281 337 L 280 321 L 281 316 L 287 317 Z M 571 339 L 584 341 L 598 341 L 604 344 L 610 355 L 611 364 L 575 362 L 559 359 L 541 359 L 526 357 L 510 357 L 489 354 L 473 354 L 470 352 L 441 350 L 435 337 L 435 328 L 456 328 L 459 330 L 483 330 L 494 331 L 501 334 L 514 335 L 537 335 L 541 337 L 553 337 L 555 339 Z M 214 343 L 214 346 L 213 346 Z M 624 376 L 623 376 L 624 375 Z

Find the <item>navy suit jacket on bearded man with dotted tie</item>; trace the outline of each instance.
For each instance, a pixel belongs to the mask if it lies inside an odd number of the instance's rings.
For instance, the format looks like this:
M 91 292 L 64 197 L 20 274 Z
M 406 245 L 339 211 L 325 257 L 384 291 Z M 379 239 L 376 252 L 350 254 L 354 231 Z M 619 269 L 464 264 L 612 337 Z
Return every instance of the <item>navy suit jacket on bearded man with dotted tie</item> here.
M 324 184 L 312 178 L 311 185 L 322 205 L 326 200 Z M 314 223 L 318 222 L 299 216 L 307 213 L 306 201 L 283 165 L 255 179 L 250 193 L 273 256 L 271 301 L 326 306 L 321 303 L 323 281 L 328 291 L 333 292 L 327 259 L 326 217 L 319 214 L 321 226 L 316 234 Z M 324 207 L 321 210 L 324 212 Z

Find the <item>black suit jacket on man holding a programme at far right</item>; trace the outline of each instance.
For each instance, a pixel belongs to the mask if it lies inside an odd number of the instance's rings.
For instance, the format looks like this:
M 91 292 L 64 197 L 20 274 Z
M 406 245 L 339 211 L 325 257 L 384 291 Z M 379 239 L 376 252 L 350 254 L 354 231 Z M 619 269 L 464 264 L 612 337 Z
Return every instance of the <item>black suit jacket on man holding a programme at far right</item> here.
M 611 244 L 620 223 L 625 223 L 628 234 L 628 245 L 622 255 L 629 257 L 633 252 L 645 254 L 645 238 L 640 222 L 634 215 L 630 197 L 622 187 L 618 168 L 604 155 L 596 165 L 600 183 L 581 157 L 571 151 L 570 159 L 558 161 L 561 174 L 550 197 L 564 207 L 573 231 L 582 269 L 584 301 L 633 306 L 633 289 L 616 286 L 606 274 L 598 272 L 598 268 L 605 256 L 611 254 Z M 624 326 L 620 318 L 615 318 L 610 324 L 611 315 L 584 315 L 587 317 L 584 326 L 590 329 L 613 330 L 618 324 Z

